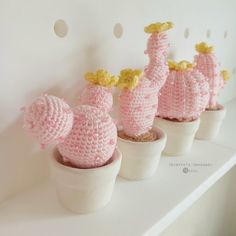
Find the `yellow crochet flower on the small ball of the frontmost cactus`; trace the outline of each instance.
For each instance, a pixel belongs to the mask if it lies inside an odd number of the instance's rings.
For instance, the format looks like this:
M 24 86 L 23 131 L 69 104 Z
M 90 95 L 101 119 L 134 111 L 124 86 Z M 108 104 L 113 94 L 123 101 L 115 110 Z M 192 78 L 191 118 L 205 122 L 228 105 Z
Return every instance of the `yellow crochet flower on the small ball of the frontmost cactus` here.
M 107 88 L 111 88 L 116 85 L 119 80 L 117 76 L 112 76 L 106 70 L 97 70 L 95 74 L 92 72 L 87 72 L 85 74 L 85 79 L 93 84 L 101 85 Z

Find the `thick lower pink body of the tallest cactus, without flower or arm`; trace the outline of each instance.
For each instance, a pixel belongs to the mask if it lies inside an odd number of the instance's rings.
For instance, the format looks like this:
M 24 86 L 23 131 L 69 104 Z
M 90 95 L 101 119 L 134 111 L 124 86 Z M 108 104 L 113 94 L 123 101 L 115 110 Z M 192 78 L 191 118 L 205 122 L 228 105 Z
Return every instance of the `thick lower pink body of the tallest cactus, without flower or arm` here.
M 157 108 L 158 88 L 141 78 L 132 91 L 124 89 L 120 95 L 120 121 L 129 136 L 139 136 L 152 128 Z

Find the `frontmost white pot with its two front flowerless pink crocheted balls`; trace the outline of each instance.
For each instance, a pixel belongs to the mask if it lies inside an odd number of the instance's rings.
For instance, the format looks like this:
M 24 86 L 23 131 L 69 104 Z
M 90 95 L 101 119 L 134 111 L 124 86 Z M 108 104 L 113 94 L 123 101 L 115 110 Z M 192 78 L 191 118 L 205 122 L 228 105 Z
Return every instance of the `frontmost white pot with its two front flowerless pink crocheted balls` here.
M 44 95 L 24 109 L 24 126 L 43 147 L 57 144 L 49 163 L 67 209 L 88 213 L 110 201 L 121 153 L 107 112 L 89 105 L 71 109 L 63 100 Z

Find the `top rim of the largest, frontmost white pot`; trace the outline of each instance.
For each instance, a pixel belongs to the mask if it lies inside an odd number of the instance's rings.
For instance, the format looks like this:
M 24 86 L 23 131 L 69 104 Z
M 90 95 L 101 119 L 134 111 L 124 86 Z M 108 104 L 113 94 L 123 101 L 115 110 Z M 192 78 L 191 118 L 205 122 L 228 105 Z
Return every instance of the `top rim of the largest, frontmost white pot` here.
M 56 166 L 56 168 L 60 169 L 60 170 L 64 170 L 67 172 L 74 172 L 74 173 L 82 173 L 82 172 L 95 172 L 95 171 L 102 171 L 102 170 L 106 170 L 109 169 L 115 165 L 117 165 L 117 163 L 121 160 L 121 152 L 120 150 L 116 147 L 114 150 L 114 153 L 112 155 L 112 157 L 109 159 L 108 163 L 100 166 L 100 167 L 95 167 L 95 168 L 88 168 L 88 169 L 82 169 L 82 168 L 77 168 L 77 167 L 70 167 L 70 166 L 66 166 L 63 165 L 62 163 L 60 163 L 57 160 L 58 155 L 60 155 L 59 151 L 57 148 L 54 148 L 52 154 L 50 155 L 50 162 Z

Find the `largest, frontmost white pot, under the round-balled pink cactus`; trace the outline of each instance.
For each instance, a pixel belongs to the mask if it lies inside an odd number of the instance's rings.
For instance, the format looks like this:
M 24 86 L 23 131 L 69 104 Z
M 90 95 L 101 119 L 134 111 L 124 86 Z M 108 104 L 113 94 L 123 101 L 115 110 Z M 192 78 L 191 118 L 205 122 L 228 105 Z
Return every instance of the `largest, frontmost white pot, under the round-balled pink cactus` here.
M 49 163 L 59 200 L 64 207 L 84 214 L 107 205 L 120 170 L 121 153 L 118 149 L 110 163 L 92 169 L 68 167 L 61 164 L 59 158 L 60 154 L 55 150 Z

